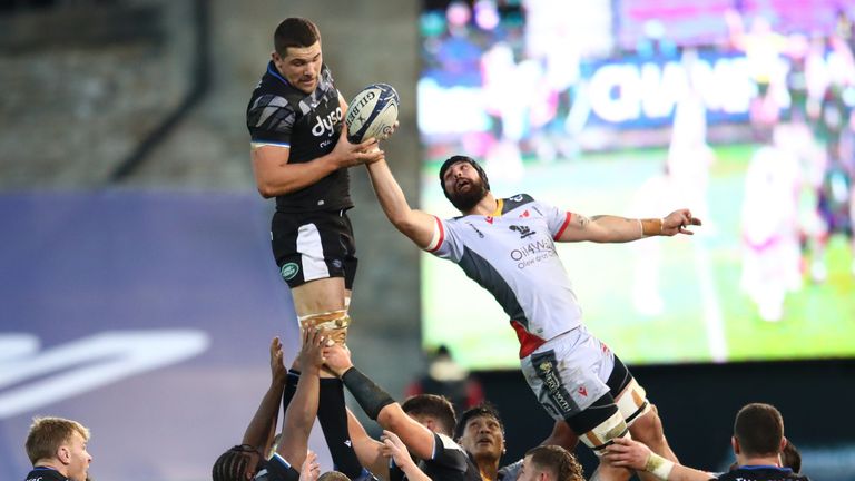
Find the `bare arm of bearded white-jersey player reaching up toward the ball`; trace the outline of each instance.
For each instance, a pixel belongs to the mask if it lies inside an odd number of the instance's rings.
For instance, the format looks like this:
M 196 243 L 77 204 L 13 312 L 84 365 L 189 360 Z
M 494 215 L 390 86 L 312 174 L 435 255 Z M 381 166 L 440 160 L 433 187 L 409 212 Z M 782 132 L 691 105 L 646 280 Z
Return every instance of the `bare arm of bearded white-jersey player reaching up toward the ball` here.
M 410 207 L 404 192 L 389 169 L 385 159 L 367 164 L 371 184 L 383 213 L 402 234 L 419 247 L 425 248 L 439 237 L 440 226 L 434 216 Z

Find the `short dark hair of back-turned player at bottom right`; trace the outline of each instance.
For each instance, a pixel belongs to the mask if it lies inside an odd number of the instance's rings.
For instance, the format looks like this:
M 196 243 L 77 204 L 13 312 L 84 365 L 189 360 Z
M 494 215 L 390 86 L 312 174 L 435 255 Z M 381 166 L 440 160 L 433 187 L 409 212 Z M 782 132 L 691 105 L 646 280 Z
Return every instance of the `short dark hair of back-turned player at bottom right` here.
M 734 436 L 746 455 L 778 454 L 784 439 L 784 419 L 770 404 L 747 404 L 736 414 Z

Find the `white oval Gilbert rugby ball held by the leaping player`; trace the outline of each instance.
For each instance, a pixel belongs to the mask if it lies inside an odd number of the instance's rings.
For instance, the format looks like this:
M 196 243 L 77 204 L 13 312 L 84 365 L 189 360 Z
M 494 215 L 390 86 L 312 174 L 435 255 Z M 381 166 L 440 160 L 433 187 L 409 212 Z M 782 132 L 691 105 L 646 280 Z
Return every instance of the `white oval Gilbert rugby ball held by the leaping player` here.
M 397 92 L 386 84 L 372 84 L 353 98 L 344 118 L 347 140 L 360 144 L 374 137 L 384 139 L 392 134 L 397 120 Z

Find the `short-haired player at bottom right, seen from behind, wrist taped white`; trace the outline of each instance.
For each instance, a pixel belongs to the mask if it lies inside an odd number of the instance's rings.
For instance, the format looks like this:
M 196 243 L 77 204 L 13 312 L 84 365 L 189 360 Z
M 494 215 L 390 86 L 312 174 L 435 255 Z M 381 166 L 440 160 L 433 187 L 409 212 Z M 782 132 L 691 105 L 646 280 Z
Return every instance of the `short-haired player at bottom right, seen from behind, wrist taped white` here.
M 666 481 L 809 481 L 782 461 L 787 439 L 784 436 L 784 419 L 773 405 L 751 403 L 740 409 L 730 444 L 736 454 L 736 467 L 719 474 L 676 464 L 629 439 L 616 440 L 606 449 L 603 460 L 651 472 Z

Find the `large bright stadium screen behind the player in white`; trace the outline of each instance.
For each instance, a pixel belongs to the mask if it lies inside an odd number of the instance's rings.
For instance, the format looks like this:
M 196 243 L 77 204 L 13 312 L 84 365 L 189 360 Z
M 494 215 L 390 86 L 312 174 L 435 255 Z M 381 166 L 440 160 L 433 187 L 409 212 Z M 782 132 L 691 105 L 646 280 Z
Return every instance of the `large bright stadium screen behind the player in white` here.
M 688 207 L 692 237 L 559 244 L 589 328 L 630 363 L 855 356 L 851 2 L 423 3 L 421 205 L 439 166 L 483 164 L 588 216 Z M 499 304 L 424 254 L 423 343 L 518 365 Z

